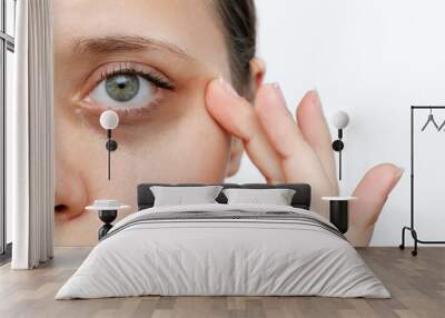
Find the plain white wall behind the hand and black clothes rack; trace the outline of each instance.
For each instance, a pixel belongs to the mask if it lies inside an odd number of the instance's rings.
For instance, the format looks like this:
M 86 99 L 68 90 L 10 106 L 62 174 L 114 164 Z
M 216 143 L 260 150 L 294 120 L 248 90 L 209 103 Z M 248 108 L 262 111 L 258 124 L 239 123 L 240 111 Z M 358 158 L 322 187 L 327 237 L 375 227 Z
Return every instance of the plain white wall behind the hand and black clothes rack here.
M 280 83 L 291 111 L 306 90 L 317 88 L 328 117 L 337 109 L 352 117 L 345 192 L 378 162 L 406 168 L 373 238 L 376 246 L 398 245 L 409 221 L 409 106 L 445 105 L 445 1 L 257 0 L 257 6 L 267 81 Z M 426 117 L 421 113 L 417 126 Z M 444 120 L 445 111 L 437 117 Z M 444 240 L 445 132 L 421 138 L 416 221 L 421 238 Z M 245 158 L 233 180 L 263 178 Z

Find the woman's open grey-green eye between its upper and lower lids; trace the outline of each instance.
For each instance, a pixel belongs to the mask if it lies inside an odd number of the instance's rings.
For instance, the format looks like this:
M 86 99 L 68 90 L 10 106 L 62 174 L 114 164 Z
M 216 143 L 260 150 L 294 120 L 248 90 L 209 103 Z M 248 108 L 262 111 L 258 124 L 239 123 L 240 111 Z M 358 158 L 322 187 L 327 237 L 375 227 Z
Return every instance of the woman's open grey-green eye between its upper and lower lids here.
M 102 108 L 131 110 L 150 106 L 158 88 L 138 74 L 115 74 L 100 81 L 89 98 Z

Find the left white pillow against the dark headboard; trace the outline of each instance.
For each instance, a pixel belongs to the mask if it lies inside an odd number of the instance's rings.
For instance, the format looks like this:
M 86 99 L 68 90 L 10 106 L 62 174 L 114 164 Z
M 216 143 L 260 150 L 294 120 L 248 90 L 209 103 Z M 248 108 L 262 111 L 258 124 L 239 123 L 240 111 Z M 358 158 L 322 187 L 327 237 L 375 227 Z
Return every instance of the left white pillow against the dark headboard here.
M 150 187 L 155 196 L 155 207 L 217 203 L 215 199 L 221 189 L 221 186 Z

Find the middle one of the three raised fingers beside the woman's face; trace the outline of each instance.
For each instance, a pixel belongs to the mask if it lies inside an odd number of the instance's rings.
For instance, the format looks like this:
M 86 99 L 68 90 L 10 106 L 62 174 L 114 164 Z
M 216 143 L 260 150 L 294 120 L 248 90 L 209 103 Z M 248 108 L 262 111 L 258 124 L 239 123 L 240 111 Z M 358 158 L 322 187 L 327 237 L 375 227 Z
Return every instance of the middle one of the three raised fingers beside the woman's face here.
M 336 195 L 335 189 L 326 181 L 320 160 L 287 109 L 280 89 L 276 85 L 261 86 L 255 110 L 268 140 L 280 156 L 286 182 L 309 183 L 314 210 L 326 216 L 326 203 L 320 201 L 320 197 Z

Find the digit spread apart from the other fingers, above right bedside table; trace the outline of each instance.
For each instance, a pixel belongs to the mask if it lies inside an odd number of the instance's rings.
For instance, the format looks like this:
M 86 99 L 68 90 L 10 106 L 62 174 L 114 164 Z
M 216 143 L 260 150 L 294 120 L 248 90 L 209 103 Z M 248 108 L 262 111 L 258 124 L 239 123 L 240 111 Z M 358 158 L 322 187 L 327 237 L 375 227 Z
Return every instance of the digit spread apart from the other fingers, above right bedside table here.
M 354 191 L 357 200 L 350 202 L 350 230 L 348 239 L 356 246 L 367 246 L 383 206 L 390 191 L 402 178 L 404 170 L 382 163 L 372 168 Z

